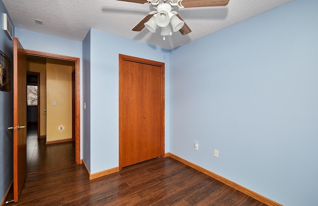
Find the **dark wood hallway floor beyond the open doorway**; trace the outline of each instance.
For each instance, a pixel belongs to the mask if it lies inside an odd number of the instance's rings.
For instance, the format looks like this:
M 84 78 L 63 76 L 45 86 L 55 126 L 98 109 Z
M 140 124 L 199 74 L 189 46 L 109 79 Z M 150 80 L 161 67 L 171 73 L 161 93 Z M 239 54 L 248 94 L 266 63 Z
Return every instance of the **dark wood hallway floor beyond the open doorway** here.
M 75 142 L 45 144 L 37 137 L 37 124 L 27 126 L 27 174 L 75 164 Z

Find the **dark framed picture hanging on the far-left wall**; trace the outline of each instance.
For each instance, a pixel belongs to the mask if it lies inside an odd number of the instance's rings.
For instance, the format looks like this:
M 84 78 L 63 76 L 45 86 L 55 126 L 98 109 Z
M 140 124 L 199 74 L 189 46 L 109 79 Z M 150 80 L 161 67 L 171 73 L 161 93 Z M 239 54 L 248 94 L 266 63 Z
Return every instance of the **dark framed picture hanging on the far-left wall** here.
M 0 91 L 11 91 L 11 61 L 0 51 Z

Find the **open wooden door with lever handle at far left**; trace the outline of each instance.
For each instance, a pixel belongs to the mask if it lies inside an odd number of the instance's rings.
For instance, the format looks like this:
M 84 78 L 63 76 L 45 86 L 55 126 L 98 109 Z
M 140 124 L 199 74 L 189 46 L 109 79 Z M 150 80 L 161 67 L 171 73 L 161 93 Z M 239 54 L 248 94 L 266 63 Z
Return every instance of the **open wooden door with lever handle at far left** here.
M 26 177 L 26 54 L 13 39 L 13 200 L 20 196 Z

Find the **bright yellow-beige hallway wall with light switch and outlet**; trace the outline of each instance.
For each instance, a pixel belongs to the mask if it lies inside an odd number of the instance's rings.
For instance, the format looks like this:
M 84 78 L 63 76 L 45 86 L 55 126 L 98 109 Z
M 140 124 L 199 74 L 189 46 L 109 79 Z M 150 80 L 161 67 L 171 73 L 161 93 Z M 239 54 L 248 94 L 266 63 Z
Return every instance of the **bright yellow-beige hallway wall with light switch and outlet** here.
M 47 59 L 47 142 L 72 138 L 73 68 L 64 61 Z M 56 105 L 53 105 L 54 100 Z M 60 126 L 63 126 L 62 131 Z

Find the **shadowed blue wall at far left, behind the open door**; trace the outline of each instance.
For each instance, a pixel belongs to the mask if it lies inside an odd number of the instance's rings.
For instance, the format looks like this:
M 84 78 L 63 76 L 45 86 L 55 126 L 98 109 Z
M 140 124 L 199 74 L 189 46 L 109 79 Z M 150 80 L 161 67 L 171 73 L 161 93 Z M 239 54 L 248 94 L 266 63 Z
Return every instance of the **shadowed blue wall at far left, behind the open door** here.
M 0 50 L 13 60 L 13 42 L 3 28 L 3 13 L 6 8 L 0 1 Z M 11 74 L 13 65 L 11 64 Z M 13 90 L 11 75 L 11 90 Z M 13 126 L 13 93 L 0 91 L 0 203 L 2 202 L 13 178 L 13 132 L 7 130 Z

